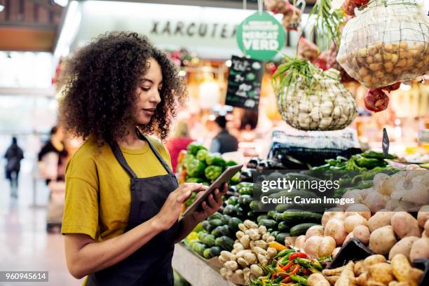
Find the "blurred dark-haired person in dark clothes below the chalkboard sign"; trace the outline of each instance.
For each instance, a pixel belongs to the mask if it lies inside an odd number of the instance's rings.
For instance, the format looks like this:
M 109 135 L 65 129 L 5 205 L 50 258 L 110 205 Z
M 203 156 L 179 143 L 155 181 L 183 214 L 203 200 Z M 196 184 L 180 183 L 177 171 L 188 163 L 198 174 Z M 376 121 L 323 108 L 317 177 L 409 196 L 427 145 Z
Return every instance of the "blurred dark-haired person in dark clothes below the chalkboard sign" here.
M 210 151 L 219 152 L 220 154 L 237 151 L 238 141 L 236 137 L 233 137 L 233 135 L 229 134 L 228 130 L 226 130 L 225 116 L 217 116 L 214 122 L 217 124 L 218 134 L 213 138 Z

